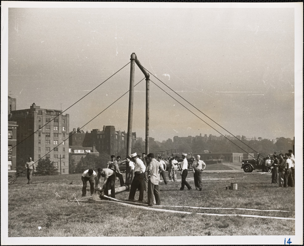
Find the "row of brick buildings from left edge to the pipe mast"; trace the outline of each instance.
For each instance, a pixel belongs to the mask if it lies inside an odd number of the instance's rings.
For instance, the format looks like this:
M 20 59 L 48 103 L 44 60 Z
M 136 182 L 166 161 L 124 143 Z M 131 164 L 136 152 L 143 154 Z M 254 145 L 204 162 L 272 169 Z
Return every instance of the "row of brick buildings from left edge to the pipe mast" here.
M 34 162 L 49 157 L 61 174 L 69 173 L 69 161 L 80 161 L 88 153 L 116 155 L 126 148 L 127 133 L 114 126 L 90 133 L 80 128 L 69 130 L 69 114 L 58 109 L 42 109 L 33 103 L 29 109 L 16 110 L 16 99 L 8 97 L 8 173 L 16 173 L 18 161 L 32 157 Z M 132 144 L 136 133 L 132 133 Z

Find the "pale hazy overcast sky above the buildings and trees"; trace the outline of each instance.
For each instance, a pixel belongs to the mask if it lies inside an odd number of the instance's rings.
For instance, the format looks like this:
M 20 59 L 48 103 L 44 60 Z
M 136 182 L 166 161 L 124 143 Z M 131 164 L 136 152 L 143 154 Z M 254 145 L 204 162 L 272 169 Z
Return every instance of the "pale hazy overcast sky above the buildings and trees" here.
M 294 29 L 293 8 L 10 8 L 8 94 L 17 109 L 65 110 L 134 52 L 151 81 L 220 133 L 230 135 L 158 79 L 234 135 L 293 138 Z M 127 65 L 68 109 L 70 131 L 129 90 L 129 78 Z M 135 84 L 143 78 L 136 66 Z M 126 131 L 128 101 L 84 131 Z M 145 80 L 135 87 L 133 132 L 145 138 Z M 150 137 L 200 133 L 220 135 L 151 82 Z

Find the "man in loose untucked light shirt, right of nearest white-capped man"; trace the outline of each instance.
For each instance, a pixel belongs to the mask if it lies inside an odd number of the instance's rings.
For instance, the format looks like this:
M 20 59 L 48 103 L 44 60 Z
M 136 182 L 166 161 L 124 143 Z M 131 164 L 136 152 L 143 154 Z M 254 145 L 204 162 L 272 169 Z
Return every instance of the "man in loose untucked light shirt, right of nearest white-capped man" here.
M 153 200 L 155 199 L 156 205 L 160 205 L 160 192 L 158 188 L 159 173 L 164 170 L 163 165 L 155 160 L 154 154 L 149 153 L 148 166 L 148 206 L 153 206 Z

